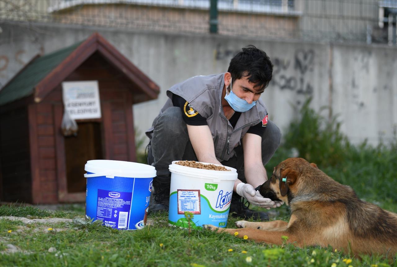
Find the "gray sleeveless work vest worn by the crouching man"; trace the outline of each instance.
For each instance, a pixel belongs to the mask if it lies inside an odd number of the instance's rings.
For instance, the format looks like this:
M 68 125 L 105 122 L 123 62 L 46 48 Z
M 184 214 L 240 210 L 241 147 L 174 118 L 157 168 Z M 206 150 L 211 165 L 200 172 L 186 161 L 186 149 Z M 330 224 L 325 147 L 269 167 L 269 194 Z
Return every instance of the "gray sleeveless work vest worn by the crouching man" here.
M 241 113 L 235 128 L 233 128 L 225 117 L 221 105 L 224 75 L 222 73 L 195 76 L 175 84 L 167 91 L 169 99 L 159 113 L 160 115 L 169 107 L 173 107 L 173 93 L 188 101 L 201 116 L 207 118 L 207 124 L 214 141 L 215 156 L 219 161 L 229 160 L 234 156 L 235 151 L 233 149 L 240 144 L 241 138 L 247 133 L 248 129 L 258 124 L 268 114 L 264 103 L 259 99 L 252 109 Z M 157 120 L 157 117 L 154 121 Z M 150 139 L 152 133 L 153 127 L 146 131 L 146 135 Z

